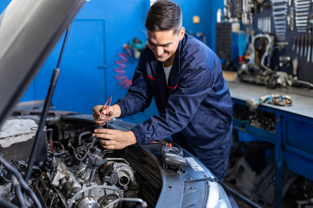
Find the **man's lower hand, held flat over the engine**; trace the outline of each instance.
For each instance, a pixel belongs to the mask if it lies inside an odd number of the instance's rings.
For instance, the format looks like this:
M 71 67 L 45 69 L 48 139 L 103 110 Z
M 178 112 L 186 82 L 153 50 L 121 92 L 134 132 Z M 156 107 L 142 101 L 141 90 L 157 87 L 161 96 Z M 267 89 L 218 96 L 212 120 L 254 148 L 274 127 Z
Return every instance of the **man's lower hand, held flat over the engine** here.
M 123 149 L 137 143 L 136 137 L 132 131 L 123 132 L 114 129 L 98 128 L 95 129 L 93 136 L 100 138 L 100 143 L 105 149 Z

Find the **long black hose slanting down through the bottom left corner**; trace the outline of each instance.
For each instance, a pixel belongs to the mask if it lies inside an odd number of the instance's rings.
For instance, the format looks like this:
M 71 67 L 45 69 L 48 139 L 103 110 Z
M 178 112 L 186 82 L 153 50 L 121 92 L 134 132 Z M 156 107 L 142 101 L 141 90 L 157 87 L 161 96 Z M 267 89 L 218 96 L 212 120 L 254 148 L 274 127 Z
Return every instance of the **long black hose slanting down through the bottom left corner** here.
M 42 208 L 39 199 L 37 198 L 37 196 L 35 195 L 35 193 L 33 192 L 33 190 L 28 186 L 28 184 L 25 182 L 25 180 L 23 179 L 23 177 L 20 175 L 20 173 L 16 170 L 16 168 L 14 168 L 12 166 L 11 163 L 9 163 L 8 161 L 6 161 L 3 157 L 0 157 L 0 163 L 7 168 L 7 170 L 9 172 L 11 172 L 16 179 L 18 180 L 18 183 L 20 184 L 21 187 L 23 187 L 23 189 L 25 189 L 29 196 L 32 198 L 32 200 L 34 201 L 35 205 L 38 208 Z

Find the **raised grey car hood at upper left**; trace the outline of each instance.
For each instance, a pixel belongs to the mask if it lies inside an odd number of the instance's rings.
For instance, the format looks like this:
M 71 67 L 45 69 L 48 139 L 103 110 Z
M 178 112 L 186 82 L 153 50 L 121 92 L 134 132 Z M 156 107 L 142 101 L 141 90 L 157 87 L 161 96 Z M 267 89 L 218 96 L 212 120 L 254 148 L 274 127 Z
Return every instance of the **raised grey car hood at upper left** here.
M 0 16 L 0 126 L 84 0 L 12 0 Z

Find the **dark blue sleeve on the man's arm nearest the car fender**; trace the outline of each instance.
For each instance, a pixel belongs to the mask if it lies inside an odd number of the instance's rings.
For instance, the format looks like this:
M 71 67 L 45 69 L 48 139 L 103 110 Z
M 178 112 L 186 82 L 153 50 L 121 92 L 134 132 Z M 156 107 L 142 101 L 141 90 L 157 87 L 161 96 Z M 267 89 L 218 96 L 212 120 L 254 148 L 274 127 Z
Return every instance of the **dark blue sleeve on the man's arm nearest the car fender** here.
M 200 103 L 210 94 L 213 73 L 220 70 L 220 63 L 209 67 L 187 70 L 178 81 L 173 94 L 169 95 L 165 113 L 152 116 L 147 121 L 133 127 L 137 144 L 164 139 L 182 131 L 191 121 Z

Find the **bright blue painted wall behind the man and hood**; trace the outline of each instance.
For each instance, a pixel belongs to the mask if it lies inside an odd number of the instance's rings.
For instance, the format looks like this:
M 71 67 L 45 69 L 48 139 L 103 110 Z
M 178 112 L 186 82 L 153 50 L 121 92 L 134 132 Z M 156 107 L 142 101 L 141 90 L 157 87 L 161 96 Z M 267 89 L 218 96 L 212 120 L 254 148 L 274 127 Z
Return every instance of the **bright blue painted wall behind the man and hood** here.
M 0 1 L 0 11 L 9 4 Z M 215 22 L 222 1 L 176 0 L 183 11 L 186 32 L 203 33 L 207 45 L 215 49 Z M 146 40 L 144 21 L 149 9 L 149 0 L 91 0 L 85 2 L 71 25 L 68 43 L 60 65 L 60 77 L 53 97 L 57 110 L 92 113 L 92 107 L 103 104 L 109 96 L 113 103 L 127 90 L 115 79 L 118 53 L 134 37 Z M 200 16 L 200 23 L 193 24 L 192 16 Z M 199 38 L 202 40 L 202 38 Z M 46 97 L 53 68 L 57 64 L 63 37 L 55 46 L 47 61 L 35 77 L 21 101 Z M 128 58 L 126 75 L 132 78 L 137 65 L 135 58 Z M 157 114 L 154 102 L 149 109 L 126 120 L 141 122 Z

